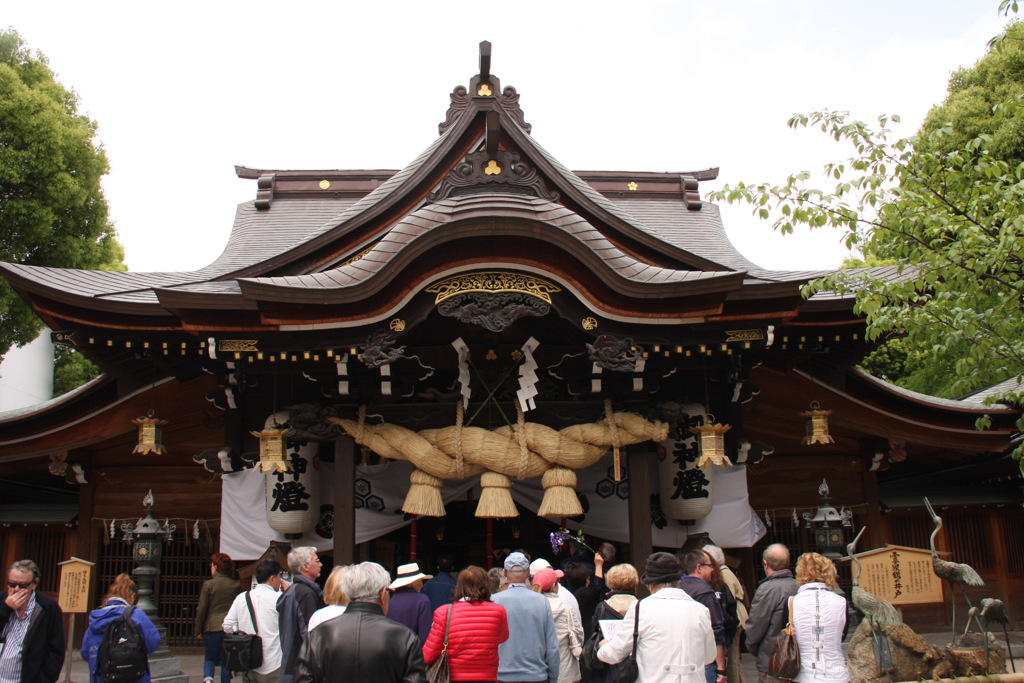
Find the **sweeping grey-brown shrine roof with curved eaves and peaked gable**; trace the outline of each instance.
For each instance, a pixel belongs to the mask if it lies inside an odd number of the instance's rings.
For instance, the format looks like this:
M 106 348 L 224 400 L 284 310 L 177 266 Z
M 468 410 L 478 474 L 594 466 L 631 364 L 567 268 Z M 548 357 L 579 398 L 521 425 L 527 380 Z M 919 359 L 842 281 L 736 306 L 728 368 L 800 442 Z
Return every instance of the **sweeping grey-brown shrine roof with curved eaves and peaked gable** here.
M 493 90 L 470 94 L 481 84 Z M 699 198 L 718 169 L 572 172 L 532 138 L 515 89 L 499 88 L 489 73 L 457 88 L 438 137 L 397 171 L 237 167 L 256 198 L 239 205 L 223 253 L 198 270 L 0 271 L 54 329 L 326 325 L 340 322 L 330 305 L 353 306 L 348 319 L 379 316 L 439 278 L 496 266 L 549 278 L 621 319 L 749 318 L 756 301 L 785 318 L 851 317 L 851 297 L 800 300 L 800 285 L 828 271 L 768 270 L 731 244 L 718 207 Z M 505 176 L 475 169 L 481 155 L 502 160 Z M 708 295 L 719 301 L 694 306 Z M 285 323 L 282 304 L 298 307 Z M 216 310 L 239 314 L 208 314 Z

